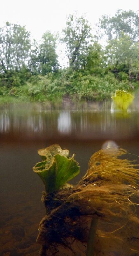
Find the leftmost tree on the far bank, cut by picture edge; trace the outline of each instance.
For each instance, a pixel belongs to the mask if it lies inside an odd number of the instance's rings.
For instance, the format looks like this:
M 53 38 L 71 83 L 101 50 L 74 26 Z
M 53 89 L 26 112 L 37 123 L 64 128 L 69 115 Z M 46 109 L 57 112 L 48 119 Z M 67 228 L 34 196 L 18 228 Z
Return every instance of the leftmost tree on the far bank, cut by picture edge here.
M 26 63 L 30 49 L 30 33 L 25 26 L 6 22 L 0 28 L 0 72 L 19 71 Z

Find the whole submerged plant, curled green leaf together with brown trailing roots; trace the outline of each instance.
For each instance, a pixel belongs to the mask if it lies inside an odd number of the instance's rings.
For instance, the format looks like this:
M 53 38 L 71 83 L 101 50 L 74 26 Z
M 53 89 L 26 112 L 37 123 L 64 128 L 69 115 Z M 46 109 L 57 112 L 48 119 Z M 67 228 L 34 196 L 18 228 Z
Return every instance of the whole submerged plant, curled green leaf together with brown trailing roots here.
M 139 239 L 133 235 L 134 224 L 139 224 L 136 213 L 139 170 L 137 164 L 123 159 L 126 150 L 108 147 L 94 153 L 86 174 L 75 185 L 66 183 L 79 172 L 77 162 L 73 157 L 69 158 L 67 150 L 54 144 L 38 153 L 43 161 L 33 170 L 45 184 L 42 201 L 46 207 L 37 237 L 37 242 L 42 245 L 40 256 L 67 255 L 61 248 L 70 249 L 68 255 L 76 256 L 123 255 L 121 250 L 126 256 L 138 255 L 139 248 L 135 243 L 133 245 L 132 238 Z M 73 161 L 67 165 L 68 169 L 66 165 L 63 167 L 63 161 L 62 164 L 57 161 L 61 157 Z M 47 175 L 42 175 L 42 171 Z M 110 242 L 104 243 L 102 238 L 110 239 Z M 119 254 L 114 252 L 115 245 Z

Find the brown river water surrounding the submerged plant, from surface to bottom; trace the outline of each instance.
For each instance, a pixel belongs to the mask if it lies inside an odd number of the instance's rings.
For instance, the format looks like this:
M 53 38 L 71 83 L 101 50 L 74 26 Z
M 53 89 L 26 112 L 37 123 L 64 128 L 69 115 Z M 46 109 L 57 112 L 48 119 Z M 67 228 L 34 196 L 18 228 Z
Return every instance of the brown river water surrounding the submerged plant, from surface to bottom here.
M 53 143 L 69 149 L 81 177 L 90 156 L 109 140 L 139 155 L 137 102 L 126 113 L 112 111 L 111 102 L 70 110 L 39 103 L 0 107 L 0 256 L 38 255 L 35 240 L 45 209 L 44 186 L 32 170 L 40 161 L 37 149 Z

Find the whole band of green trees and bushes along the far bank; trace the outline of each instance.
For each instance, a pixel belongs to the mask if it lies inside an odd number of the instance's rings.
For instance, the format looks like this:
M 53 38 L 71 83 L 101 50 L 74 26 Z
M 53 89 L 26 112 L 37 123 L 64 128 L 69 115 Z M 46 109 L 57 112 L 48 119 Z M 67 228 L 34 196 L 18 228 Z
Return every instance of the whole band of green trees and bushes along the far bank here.
M 109 99 L 116 89 L 139 88 L 139 15 L 102 16 L 93 36 L 88 21 L 69 15 L 62 36 L 46 31 L 31 41 L 25 26 L 0 28 L 0 102 Z M 105 47 L 100 42 L 105 44 Z M 65 47 L 67 67 L 58 61 Z

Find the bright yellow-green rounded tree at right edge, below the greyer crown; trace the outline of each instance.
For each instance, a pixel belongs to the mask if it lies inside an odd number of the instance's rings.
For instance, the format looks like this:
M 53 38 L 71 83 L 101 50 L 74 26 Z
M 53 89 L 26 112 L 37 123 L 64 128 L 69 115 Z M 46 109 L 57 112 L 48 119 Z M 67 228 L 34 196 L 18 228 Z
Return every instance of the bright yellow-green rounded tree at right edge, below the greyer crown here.
M 129 80 L 139 73 L 139 43 L 124 32 L 119 38 L 109 40 L 105 56 L 106 64 L 113 72 L 125 72 Z

